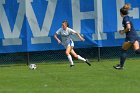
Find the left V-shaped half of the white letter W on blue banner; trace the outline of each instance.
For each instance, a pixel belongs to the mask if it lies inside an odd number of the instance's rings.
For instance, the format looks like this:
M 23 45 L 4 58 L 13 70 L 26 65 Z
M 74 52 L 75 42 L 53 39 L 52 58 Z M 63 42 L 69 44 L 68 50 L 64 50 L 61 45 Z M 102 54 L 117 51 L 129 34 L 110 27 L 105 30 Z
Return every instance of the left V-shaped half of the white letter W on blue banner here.
M 24 0 L 17 0 L 19 3 L 19 9 L 17 12 L 16 21 L 14 24 L 13 31 L 11 31 L 11 27 L 4 10 L 3 4 L 5 4 L 5 0 L 0 0 L 0 24 L 2 27 L 2 31 L 4 34 L 4 39 L 2 40 L 3 46 L 8 45 L 22 45 L 22 40 L 19 38 L 21 33 L 21 28 L 24 20 L 25 15 L 25 1 Z

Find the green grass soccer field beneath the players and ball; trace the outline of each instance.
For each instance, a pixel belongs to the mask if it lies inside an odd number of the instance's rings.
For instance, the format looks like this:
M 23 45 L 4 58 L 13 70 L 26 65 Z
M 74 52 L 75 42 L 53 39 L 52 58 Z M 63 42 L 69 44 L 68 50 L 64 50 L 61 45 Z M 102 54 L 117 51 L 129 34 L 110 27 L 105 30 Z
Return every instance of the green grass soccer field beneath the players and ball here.
M 140 93 L 140 58 L 127 59 L 124 70 L 113 69 L 118 61 L 1 65 L 0 93 Z

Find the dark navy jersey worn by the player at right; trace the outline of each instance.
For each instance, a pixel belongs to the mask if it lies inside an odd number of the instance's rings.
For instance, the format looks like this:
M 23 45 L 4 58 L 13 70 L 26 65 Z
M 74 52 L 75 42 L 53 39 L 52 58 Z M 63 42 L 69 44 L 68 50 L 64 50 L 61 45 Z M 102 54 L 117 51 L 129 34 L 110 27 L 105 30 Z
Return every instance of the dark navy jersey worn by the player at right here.
M 131 18 L 129 16 L 125 16 L 123 18 L 122 24 L 123 24 L 124 29 L 127 28 L 127 24 L 131 25 L 131 29 L 128 32 L 126 32 L 126 37 L 127 38 L 137 37 L 137 34 L 136 34 L 135 29 L 134 29 L 133 23 L 132 23 Z

